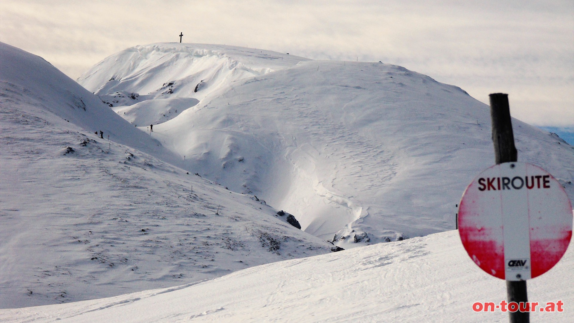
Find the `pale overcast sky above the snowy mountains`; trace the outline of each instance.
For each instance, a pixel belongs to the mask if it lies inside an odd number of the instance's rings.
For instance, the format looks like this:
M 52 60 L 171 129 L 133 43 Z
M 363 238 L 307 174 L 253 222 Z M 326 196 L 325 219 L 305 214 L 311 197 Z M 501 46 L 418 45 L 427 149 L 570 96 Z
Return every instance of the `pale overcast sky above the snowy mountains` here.
M 73 79 L 180 32 L 184 43 L 398 64 L 485 103 L 508 93 L 530 124 L 574 128 L 572 0 L 0 1 L 0 41 Z

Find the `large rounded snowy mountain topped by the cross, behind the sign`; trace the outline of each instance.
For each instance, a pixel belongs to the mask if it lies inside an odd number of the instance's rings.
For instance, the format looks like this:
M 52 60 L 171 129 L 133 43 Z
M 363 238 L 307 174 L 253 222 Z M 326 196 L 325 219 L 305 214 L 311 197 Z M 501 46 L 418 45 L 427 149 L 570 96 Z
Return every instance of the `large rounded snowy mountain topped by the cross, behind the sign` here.
M 108 57 L 79 82 L 104 101 L 198 99 L 152 136 L 184 168 L 263 197 L 345 248 L 455 228 L 464 188 L 494 164 L 488 106 L 381 62 L 152 44 Z M 513 124 L 519 160 L 546 168 L 572 199 L 574 147 Z

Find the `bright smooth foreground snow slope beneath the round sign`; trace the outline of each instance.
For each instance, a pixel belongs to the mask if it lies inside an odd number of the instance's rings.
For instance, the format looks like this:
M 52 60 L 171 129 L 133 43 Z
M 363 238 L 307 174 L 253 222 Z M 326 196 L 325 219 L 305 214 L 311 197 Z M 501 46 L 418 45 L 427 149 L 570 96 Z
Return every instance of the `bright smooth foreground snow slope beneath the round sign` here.
M 528 281 L 531 302 L 562 301 L 564 312 L 531 322 L 572 322 L 574 252 Z M 286 260 L 170 289 L 65 305 L 0 310 L 2 322 L 508 322 L 475 313 L 506 299 L 503 280 L 468 257 L 456 230 Z

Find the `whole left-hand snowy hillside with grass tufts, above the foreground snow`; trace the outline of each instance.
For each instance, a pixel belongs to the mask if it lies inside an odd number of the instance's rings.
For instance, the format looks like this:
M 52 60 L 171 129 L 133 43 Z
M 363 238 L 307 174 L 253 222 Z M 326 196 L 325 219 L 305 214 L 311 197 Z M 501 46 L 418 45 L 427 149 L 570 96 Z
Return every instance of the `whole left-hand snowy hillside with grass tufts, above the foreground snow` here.
M 257 197 L 153 156 L 170 153 L 40 57 L 6 44 L 0 54 L 0 307 L 174 286 L 333 248 Z

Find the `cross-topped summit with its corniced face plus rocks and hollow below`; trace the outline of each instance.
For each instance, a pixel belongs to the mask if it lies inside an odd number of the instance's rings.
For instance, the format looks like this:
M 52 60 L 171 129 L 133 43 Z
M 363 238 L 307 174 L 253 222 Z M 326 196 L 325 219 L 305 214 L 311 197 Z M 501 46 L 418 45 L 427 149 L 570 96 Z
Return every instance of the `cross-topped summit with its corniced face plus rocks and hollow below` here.
M 242 47 L 158 43 L 111 55 L 80 76 L 78 82 L 131 124 L 157 125 L 206 97 L 217 96 L 237 80 L 303 60 L 307 59 Z M 158 101 L 166 98 L 178 98 L 177 107 L 170 101 Z

